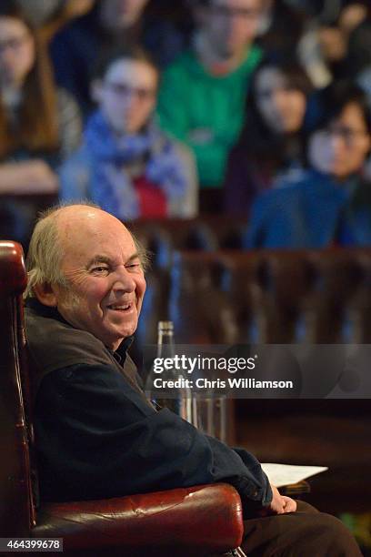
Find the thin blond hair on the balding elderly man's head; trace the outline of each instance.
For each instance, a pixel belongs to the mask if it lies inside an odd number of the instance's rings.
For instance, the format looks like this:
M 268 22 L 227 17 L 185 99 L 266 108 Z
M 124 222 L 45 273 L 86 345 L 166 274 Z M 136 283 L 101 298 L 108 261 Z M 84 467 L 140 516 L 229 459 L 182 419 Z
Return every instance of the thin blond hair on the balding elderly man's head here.
M 62 288 L 68 288 L 68 280 L 62 272 L 64 248 L 60 241 L 57 217 L 61 209 L 77 205 L 99 209 L 94 203 L 84 201 L 78 204 L 60 203 L 40 213 L 31 237 L 25 262 L 28 276 L 24 294 L 25 299 L 35 297 L 34 289 L 36 285 L 56 284 Z M 135 238 L 131 231 L 129 233 L 133 238 L 135 249 L 145 271 L 149 266 L 149 252 Z

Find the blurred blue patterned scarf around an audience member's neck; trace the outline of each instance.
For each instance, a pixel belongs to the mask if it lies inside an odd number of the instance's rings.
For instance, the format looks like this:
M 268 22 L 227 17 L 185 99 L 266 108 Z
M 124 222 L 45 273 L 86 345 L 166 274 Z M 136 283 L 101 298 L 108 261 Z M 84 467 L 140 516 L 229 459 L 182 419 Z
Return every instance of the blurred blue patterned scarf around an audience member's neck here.
M 116 137 L 98 110 L 88 120 L 85 143 L 93 158 L 89 197 L 122 220 L 140 217 L 135 185 L 125 167 L 143 164 L 143 176 L 167 200 L 186 193 L 186 168 L 174 144 L 154 122 L 140 134 Z

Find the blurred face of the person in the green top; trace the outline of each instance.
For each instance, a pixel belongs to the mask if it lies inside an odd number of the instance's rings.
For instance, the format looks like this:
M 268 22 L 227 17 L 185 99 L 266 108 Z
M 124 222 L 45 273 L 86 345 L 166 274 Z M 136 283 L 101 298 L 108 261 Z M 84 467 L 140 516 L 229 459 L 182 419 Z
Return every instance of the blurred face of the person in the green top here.
M 210 0 L 199 21 L 216 55 L 237 55 L 253 42 L 261 9 L 261 0 Z

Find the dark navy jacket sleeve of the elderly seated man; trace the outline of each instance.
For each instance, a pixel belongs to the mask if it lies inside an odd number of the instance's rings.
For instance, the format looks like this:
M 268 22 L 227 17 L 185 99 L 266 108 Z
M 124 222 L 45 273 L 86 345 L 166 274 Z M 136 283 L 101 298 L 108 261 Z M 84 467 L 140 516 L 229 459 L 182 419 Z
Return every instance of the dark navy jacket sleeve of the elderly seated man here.
M 167 409 L 154 410 L 109 366 L 45 376 L 35 403 L 41 498 L 71 501 L 226 481 L 246 514 L 271 500 L 256 458 L 243 458 Z

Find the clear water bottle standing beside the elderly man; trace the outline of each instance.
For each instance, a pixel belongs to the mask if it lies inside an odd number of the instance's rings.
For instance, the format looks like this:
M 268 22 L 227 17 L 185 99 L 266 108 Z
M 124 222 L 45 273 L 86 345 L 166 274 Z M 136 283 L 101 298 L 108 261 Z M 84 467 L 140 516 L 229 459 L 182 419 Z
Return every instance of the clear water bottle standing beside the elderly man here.
M 175 340 L 173 321 L 159 321 L 157 359 L 163 359 L 163 361 L 166 359 L 169 361 L 174 360 L 174 357 Z M 165 381 L 175 381 L 177 386 L 156 390 L 154 388 L 154 380 L 158 378 L 161 378 L 163 384 Z M 170 369 L 164 369 L 161 373 L 155 373 L 154 368 L 152 368 L 145 381 L 145 393 L 157 409 L 168 408 L 184 420 L 192 423 L 192 390 L 186 386 L 186 380 L 185 373 L 182 370 L 176 370 L 175 366 Z

